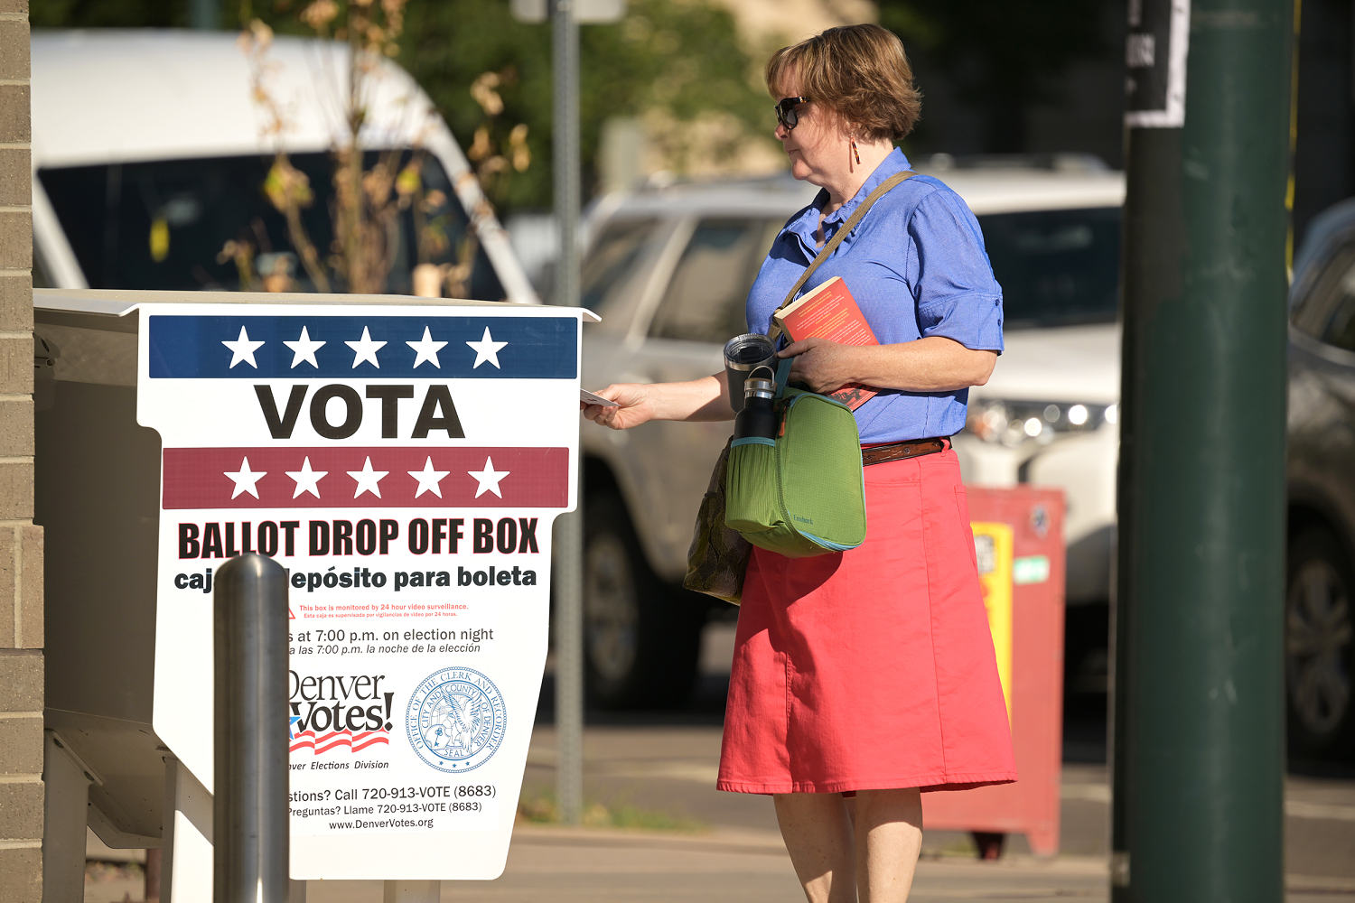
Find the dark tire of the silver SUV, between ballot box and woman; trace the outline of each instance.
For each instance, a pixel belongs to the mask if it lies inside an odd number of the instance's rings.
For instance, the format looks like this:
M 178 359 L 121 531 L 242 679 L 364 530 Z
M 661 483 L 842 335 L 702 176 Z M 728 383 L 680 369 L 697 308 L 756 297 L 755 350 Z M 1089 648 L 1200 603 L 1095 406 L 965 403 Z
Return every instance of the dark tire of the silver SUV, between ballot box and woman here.
M 706 608 L 654 575 L 615 494 L 587 500 L 583 571 L 588 701 L 607 709 L 686 701 Z

